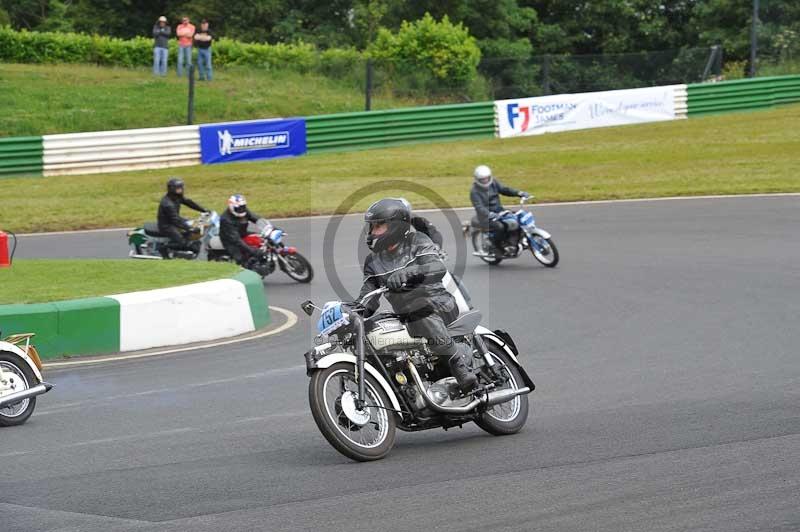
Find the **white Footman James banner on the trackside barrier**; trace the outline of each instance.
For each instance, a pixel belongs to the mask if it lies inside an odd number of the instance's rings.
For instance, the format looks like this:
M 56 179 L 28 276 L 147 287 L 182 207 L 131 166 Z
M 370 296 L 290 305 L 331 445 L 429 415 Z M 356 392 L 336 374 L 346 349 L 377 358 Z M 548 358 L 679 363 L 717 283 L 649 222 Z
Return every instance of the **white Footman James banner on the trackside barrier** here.
M 501 138 L 674 120 L 675 86 L 499 100 L 494 110 Z

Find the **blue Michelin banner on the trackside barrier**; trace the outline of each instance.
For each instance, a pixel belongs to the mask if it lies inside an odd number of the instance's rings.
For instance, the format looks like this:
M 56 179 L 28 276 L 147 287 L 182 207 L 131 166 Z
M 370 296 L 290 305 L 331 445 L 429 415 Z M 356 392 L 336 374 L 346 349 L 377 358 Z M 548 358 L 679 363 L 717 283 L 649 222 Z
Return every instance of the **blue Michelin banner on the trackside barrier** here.
M 253 120 L 200 126 L 203 164 L 291 157 L 306 152 L 306 121 Z

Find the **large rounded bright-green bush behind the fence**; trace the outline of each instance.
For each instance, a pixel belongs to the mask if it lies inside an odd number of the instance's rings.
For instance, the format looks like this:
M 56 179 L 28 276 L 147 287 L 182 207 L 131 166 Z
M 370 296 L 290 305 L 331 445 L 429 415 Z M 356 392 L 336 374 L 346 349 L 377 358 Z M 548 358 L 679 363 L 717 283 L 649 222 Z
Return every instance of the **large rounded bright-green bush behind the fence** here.
M 463 24 L 445 15 L 440 22 L 430 13 L 415 22 L 403 22 L 397 33 L 382 28 L 370 54 L 401 74 L 418 76 L 439 86 L 463 87 L 478 75 L 481 52 Z

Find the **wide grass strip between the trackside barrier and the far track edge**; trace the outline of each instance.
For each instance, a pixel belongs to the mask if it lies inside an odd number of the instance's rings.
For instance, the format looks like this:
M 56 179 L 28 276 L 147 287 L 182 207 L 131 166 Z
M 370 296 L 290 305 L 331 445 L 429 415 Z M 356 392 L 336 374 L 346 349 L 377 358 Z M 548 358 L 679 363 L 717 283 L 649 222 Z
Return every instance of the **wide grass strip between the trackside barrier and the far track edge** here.
M 387 179 L 469 205 L 471 171 L 489 164 L 540 201 L 800 191 L 800 105 L 760 112 L 506 140 L 409 145 L 263 163 L 0 180 L 0 224 L 16 232 L 130 227 L 155 217 L 168 176 L 221 210 L 234 192 L 268 216 L 341 212 L 353 191 Z M 381 189 L 360 201 L 365 208 Z M 417 207 L 427 199 L 404 192 Z

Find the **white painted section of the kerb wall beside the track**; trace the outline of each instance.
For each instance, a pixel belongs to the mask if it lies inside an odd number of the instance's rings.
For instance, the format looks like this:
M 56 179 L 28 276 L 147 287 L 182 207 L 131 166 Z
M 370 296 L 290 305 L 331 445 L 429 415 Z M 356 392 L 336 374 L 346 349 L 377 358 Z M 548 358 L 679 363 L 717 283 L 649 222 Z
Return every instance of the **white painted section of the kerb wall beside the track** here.
M 227 338 L 255 330 L 235 279 L 109 296 L 119 301 L 120 351 Z

